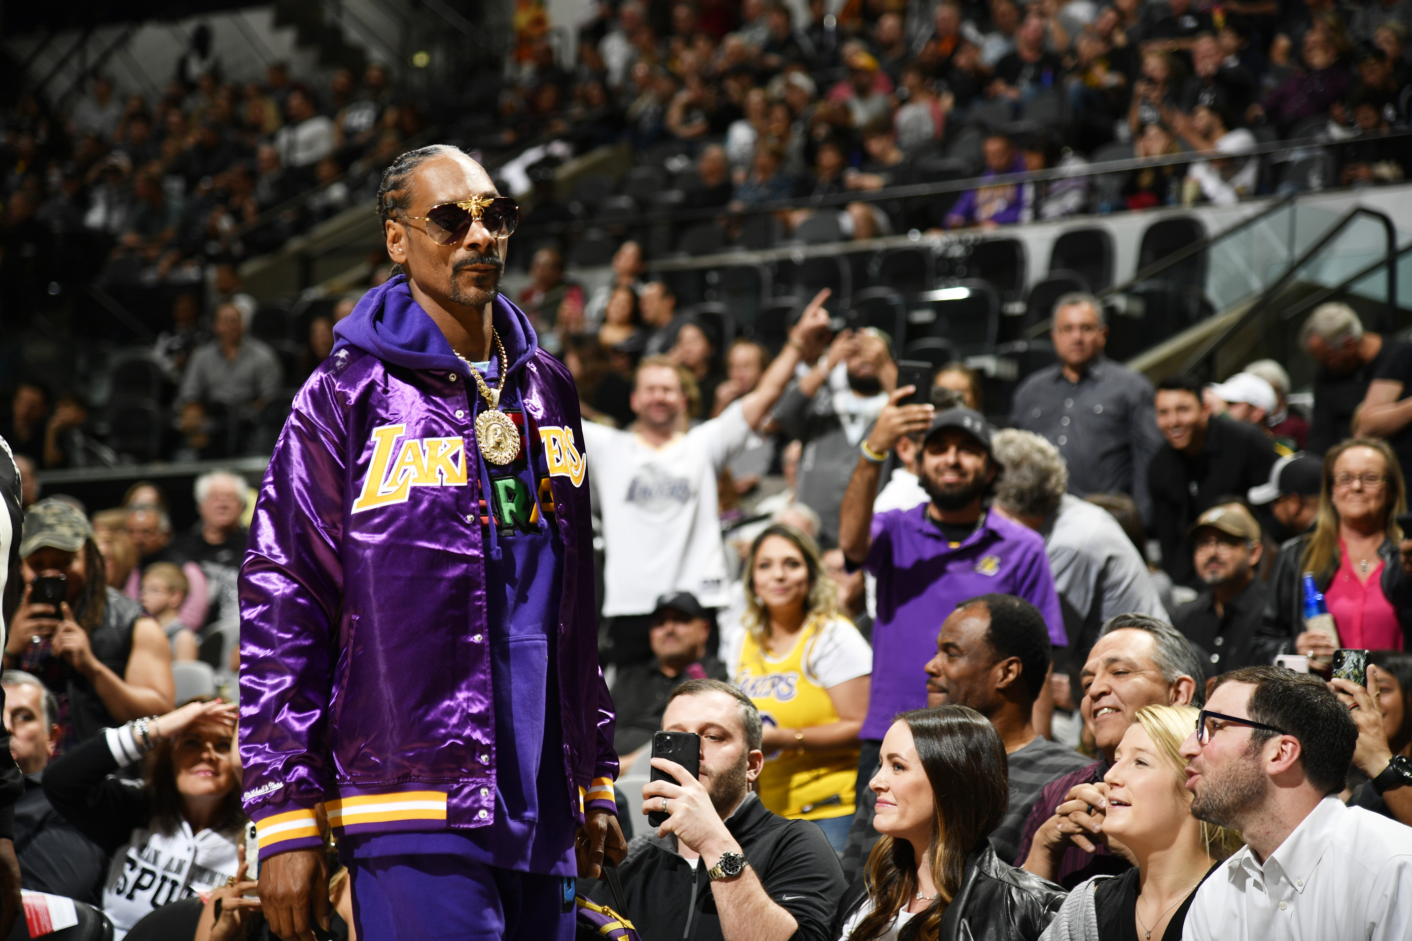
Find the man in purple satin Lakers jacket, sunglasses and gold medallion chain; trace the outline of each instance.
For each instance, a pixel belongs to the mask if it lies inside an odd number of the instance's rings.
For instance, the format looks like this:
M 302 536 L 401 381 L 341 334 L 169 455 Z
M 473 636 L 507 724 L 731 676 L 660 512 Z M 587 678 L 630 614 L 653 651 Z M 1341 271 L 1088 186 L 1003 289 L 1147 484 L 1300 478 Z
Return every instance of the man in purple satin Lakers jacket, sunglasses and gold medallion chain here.
M 240 756 L 281 938 L 573 937 L 626 852 L 568 370 L 498 296 L 517 210 L 450 147 L 383 175 L 402 272 L 294 401 L 240 576 Z M 496 389 L 500 395 L 496 395 Z

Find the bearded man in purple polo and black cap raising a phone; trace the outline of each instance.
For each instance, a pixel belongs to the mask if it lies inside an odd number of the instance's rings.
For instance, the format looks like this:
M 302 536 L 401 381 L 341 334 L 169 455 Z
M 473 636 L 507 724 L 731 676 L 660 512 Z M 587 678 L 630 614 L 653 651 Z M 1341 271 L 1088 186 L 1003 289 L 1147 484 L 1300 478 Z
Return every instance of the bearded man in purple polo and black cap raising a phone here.
M 860 446 L 840 511 L 839 547 L 849 566 L 878 580 L 873 696 L 858 732 L 861 782 L 877 767 L 892 718 L 926 707 L 923 666 L 936 650 L 939 621 L 960 602 L 993 593 L 1024 598 L 1039 609 L 1053 646 L 1067 643 L 1043 539 L 983 506 L 997 473 L 990 425 L 967 408 L 933 415 L 931 405 L 901 405 L 911 391 L 890 396 Z M 918 477 L 931 502 L 874 516 L 882 456 L 904 435 L 925 436 Z

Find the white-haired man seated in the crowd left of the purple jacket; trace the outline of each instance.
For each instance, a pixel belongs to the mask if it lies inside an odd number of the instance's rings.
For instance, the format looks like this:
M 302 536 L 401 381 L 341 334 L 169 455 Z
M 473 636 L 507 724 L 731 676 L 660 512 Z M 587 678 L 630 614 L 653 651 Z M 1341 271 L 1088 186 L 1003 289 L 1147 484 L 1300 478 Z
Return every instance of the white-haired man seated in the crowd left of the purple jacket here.
M 206 576 L 210 595 L 206 624 L 240 617 L 236 577 L 246 557 L 249 533 L 241 519 L 251 497 L 250 484 L 232 471 L 217 470 L 196 478 L 201 521 L 174 543 L 174 554 L 195 561 Z

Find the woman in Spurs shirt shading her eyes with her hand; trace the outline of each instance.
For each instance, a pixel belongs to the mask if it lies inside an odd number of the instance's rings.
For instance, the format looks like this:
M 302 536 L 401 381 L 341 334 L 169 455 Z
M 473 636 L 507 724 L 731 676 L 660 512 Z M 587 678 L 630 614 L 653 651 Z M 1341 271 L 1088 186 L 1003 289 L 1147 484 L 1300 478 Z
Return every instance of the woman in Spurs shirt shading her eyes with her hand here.
M 117 941 L 152 909 L 236 875 L 244 815 L 234 729 L 234 704 L 188 703 L 104 729 L 44 769 L 54 810 L 113 856 L 103 911 Z M 144 758 L 143 784 L 116 775 Z

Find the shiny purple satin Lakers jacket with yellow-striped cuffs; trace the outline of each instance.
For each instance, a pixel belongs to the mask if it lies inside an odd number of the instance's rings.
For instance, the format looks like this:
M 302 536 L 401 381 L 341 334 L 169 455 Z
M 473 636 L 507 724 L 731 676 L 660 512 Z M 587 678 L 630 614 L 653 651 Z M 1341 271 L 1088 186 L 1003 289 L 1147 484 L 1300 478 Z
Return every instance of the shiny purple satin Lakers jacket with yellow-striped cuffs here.
M 486 570 L 500 549 L 474 436 L 486 402 L 405 279 L 369 292 L 354 319 L 361 334 L 340 323 L 294 401 L 240 574 L 243 803 L 261 855 L 318 846 L 318 804 L 339 834 L 496 814 Z M 562 540 L 558 700 L 565 800 L 582 821 L 585 807 L 616 810 L 617 756 L 579 399 L 524 313 L 500 298 L 493 323 L 539 480 L 530 512 Z

